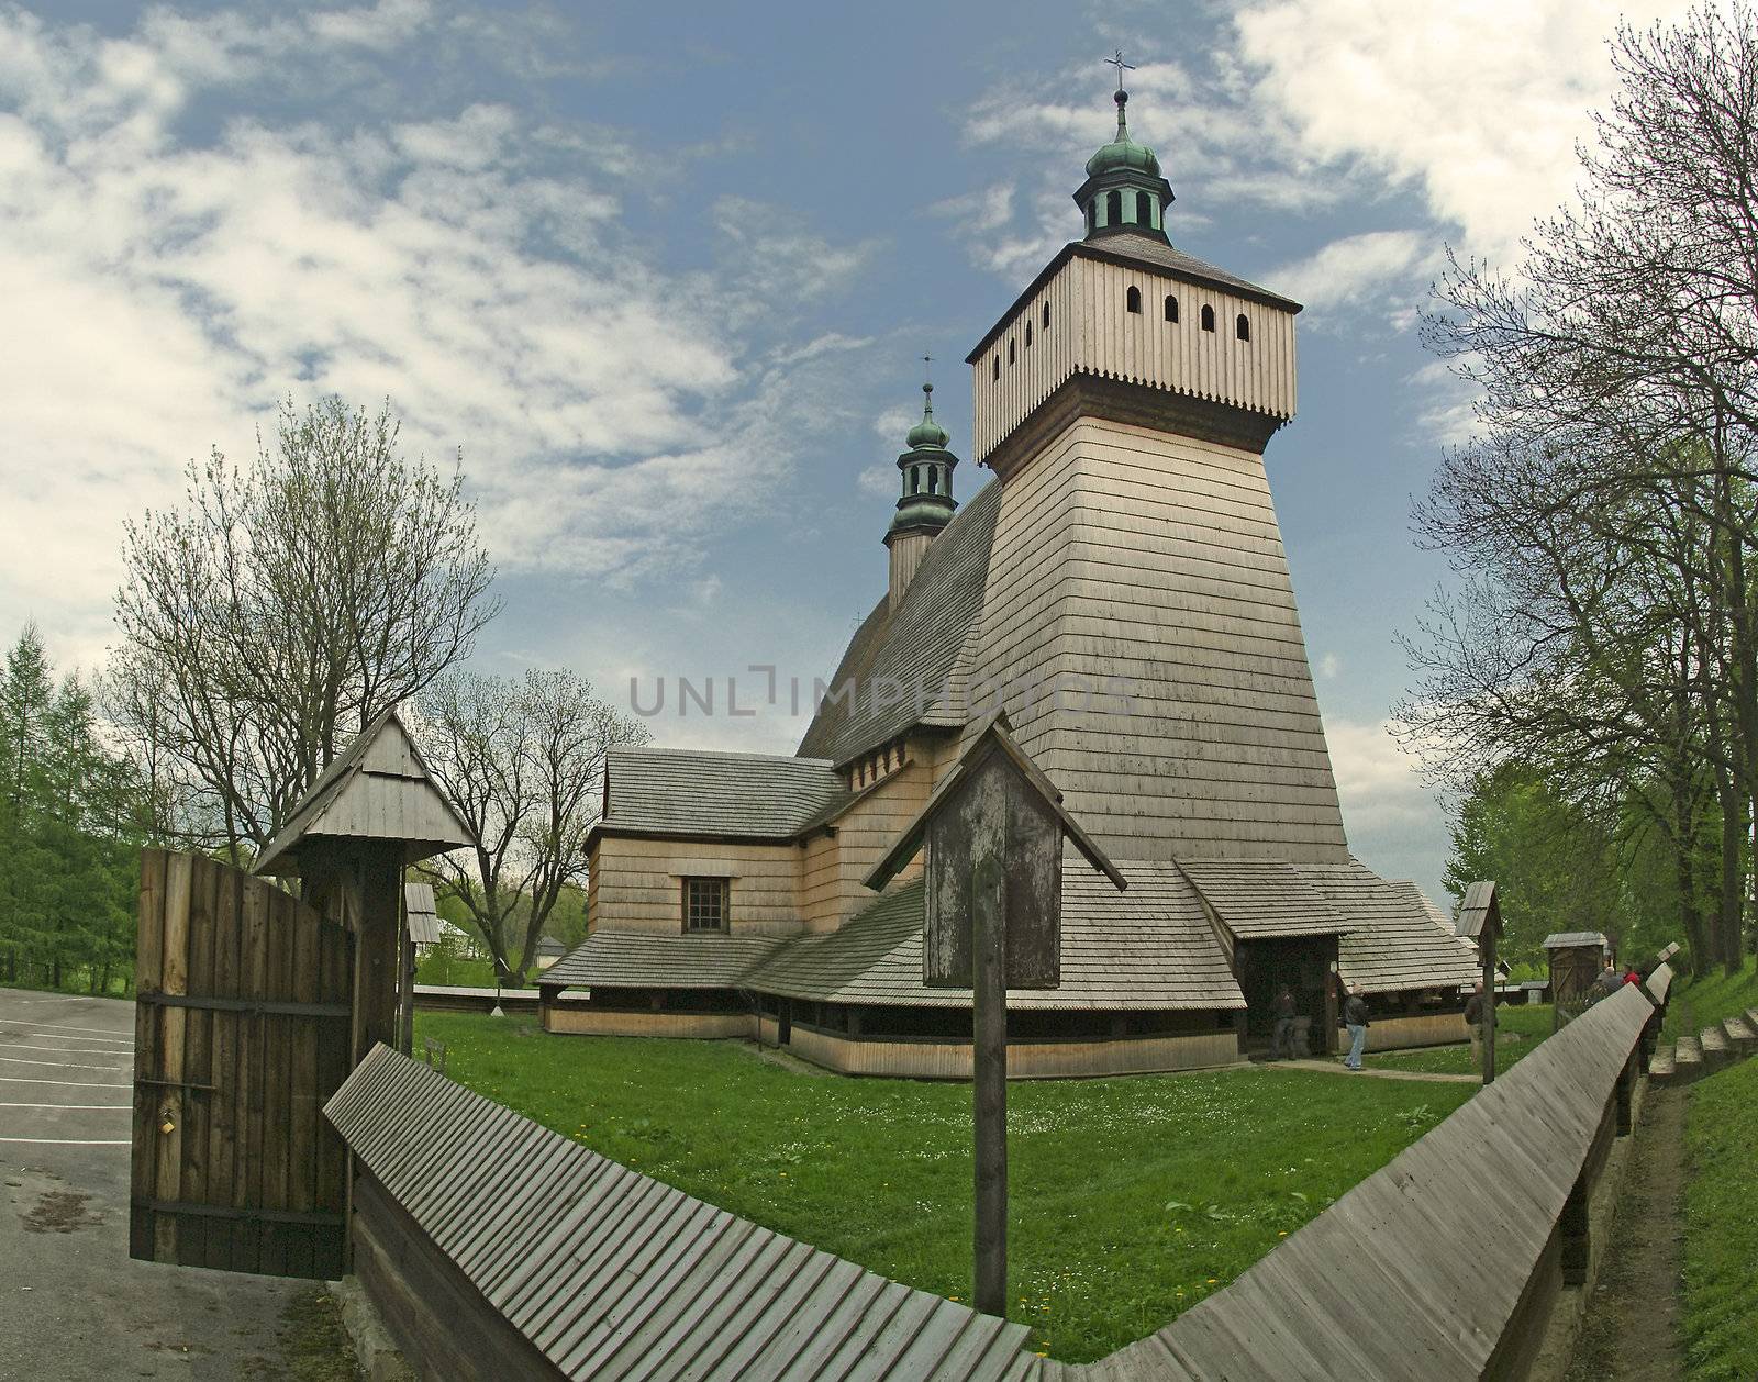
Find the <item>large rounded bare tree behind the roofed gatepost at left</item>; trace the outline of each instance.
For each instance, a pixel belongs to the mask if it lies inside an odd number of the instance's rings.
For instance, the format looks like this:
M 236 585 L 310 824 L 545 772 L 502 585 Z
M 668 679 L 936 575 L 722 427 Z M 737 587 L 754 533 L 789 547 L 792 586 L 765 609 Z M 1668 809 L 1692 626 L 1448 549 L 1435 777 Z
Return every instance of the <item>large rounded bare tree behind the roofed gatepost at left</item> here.
M 234 862 L 498 610 L 459 469 L 403 459 L 397 433 L 389 401 L 287 401 L 253 464 L 192 461 L 183 506 L 127 527 L 109 710 L 181 772 L 185 832 Z

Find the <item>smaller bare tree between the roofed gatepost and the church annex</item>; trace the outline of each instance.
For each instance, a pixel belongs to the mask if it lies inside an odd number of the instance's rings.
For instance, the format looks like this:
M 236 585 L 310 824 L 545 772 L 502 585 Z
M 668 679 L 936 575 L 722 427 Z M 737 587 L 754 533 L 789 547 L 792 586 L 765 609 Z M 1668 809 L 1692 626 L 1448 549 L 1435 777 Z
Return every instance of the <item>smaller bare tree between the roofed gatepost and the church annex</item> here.
M 476 835 L 427 865 L 487 941 L 496 972 L 524 983 L 538 937 L 568 884 L 585 883 L 585 839 L 599 818 L 605 754 L 647 730 L 573 672 L 522 680 L 454 672 L 422 695 L 424 754 Z

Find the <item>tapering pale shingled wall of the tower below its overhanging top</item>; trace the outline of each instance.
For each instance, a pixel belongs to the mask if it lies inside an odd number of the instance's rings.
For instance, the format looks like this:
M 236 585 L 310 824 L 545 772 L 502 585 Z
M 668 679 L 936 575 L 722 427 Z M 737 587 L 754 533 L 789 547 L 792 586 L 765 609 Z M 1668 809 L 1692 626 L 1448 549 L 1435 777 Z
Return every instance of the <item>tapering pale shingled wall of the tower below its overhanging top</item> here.
M 970 686 L 1035 687 L 1016 737 L 1120 858 L 1348 858 L 1255 454 L 1067 427 L 1007 480 Z

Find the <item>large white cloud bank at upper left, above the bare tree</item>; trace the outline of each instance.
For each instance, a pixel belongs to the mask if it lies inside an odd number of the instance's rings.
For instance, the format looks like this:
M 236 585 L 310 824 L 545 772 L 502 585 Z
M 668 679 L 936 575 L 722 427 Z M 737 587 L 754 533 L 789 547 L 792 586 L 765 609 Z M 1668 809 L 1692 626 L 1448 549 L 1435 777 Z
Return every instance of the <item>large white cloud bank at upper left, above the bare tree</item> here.
M 123 39 L 0 11 L 0 628 L 93 663 L 123 519 L 211 445 L 246 455 L 288 390 L 390 396 L 406 450 L 462 447 L 503 570 L 614 580 L 693 561 L 842 420 L 823 404 L 865 343 L 761 338 L 872 246 L 721 202 L 723 264 L 668 274 L 622 230 L 603 132 L 498 104 L 181 134 L 197 102 L 323 86 L 425 26 L 403 0 L 153 9 Z

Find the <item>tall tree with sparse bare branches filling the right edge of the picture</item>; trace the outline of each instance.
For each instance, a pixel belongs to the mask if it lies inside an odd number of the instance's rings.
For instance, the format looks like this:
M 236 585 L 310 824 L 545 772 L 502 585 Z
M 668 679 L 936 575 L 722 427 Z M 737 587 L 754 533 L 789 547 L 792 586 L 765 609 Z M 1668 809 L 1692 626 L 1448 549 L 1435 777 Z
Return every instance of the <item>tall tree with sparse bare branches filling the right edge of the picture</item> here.
M 1466 582 L 1412 640 L 1403 710 L 1449 775 L 1517 754 L 1577 796 L 1638 791 L 1681 851 L 1712 782 L 1705 939 L 1733 965 L 1758 890 L 1758 18 L 1705 5 L 1610 47 L 1580 207 L 1519 274 L 1449 258 L 1424 318 L 1486 441 L 1419 512 Z

